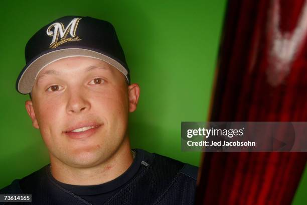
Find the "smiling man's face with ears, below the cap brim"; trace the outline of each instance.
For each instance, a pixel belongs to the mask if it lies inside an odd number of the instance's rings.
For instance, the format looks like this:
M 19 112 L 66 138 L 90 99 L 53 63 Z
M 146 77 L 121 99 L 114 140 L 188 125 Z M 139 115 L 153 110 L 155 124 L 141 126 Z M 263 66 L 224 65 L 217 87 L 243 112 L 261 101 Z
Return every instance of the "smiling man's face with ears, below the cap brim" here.
M 37 76 L 26 102 L 51 160 L 72 167 L 94 166 L 128 143 L 128 113 L 136 109 L 138 85 L 102 60 L 70 57 Z

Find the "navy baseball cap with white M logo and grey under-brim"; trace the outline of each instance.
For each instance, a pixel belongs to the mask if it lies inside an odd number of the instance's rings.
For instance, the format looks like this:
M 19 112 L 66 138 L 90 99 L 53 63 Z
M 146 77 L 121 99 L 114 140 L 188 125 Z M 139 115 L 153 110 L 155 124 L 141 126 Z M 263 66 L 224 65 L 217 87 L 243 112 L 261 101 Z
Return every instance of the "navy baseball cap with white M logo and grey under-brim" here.
M 65 16 L 41 28 L 28 41 L 26 66 L 16 81 L 17 91 L 30 93 L 41 70 L 74 56 L 101 59 L 117 68 L 130 83 L 125 55 L 112 24 L 91 17 Z

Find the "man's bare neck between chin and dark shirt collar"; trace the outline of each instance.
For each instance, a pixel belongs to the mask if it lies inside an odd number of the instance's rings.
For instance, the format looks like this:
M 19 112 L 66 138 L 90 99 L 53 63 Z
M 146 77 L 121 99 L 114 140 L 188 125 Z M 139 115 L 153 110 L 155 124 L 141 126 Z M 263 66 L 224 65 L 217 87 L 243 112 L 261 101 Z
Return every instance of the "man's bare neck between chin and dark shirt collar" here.
M 111 181 L 123 174 L 133 162 L 130 144 L 119 148 L 106 161 L 92 167 L 72 167 L 54 156 L 51 159 L 53 177 L 66 184 L 97 185 Z

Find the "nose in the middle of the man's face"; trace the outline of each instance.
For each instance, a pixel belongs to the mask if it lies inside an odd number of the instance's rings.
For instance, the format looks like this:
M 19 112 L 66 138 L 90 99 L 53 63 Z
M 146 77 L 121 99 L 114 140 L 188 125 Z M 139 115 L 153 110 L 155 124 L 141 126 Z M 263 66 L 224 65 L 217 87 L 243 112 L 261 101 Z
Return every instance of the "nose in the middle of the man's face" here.
M 81 92 L 71 92 L 67 101 L 67 112 L 69 114 L 80 113 L 90 109 L 90 103 L 86 94 Z

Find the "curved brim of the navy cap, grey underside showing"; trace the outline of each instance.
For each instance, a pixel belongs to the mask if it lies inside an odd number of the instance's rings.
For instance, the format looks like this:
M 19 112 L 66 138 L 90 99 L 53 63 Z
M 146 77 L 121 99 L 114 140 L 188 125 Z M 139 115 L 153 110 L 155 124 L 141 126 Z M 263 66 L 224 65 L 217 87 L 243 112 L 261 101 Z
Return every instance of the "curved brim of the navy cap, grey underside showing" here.
M 128 71 L 126 68 L 121 65 L 118 61 L 114 60 L 113 58 L 104 55 L 102 53 L 84 49 L 84 48 L 64 48 L 61 50 L 55 50 L 51 51 L 49 53 L 46 53 L 37 59 L 35 59 L 33 62 L 31 62 L 29 65 L 26 65 L 22 75 L 20 76 L 18 83 L 17 83 L 17 90 L 20 93 L 27 94 L 32 91 L 32 87 L 34 85 L 34 81 L 39 74 L 41 70 L 43 70 L 47 65 L 50 63 L 53 63 L 57 60 L 68 58 L 68 57 L 91 57 L 103 60 L 115 68 L 117 68 L 120 72 L 122 72 L 129 82 L 129 79 L 127 77 Z

